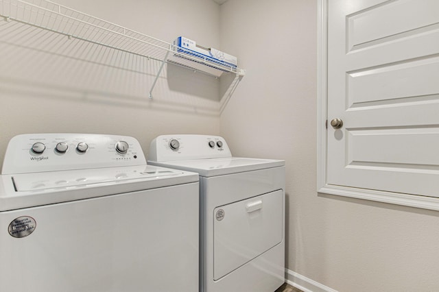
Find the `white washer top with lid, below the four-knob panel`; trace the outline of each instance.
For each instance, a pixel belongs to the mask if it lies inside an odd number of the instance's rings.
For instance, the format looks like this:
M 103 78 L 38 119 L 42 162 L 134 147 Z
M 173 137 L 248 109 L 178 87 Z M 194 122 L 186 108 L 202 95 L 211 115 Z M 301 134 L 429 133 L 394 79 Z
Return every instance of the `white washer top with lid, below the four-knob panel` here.
M 0 211 L 198 182 L 197 173 L 150 165 L 1 175 Z

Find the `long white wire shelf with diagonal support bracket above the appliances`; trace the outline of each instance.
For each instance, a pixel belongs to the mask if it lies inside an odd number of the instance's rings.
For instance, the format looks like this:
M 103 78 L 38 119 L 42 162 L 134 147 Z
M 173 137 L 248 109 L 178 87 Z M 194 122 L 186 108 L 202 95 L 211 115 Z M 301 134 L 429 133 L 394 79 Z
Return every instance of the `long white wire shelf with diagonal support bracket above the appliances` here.
M 190 56 L 189 51 L 185 53 L 184 49 L 169 42 L 134 32 L 126 27 L 47 0 L 0 0 L 0 16 L 8 22 L 24 23 L 55 34 L 62 34 L 68 38 L 84 40 L 95 45 L 158 60 L 163 64 L 178 64 L 215 77 L 219 77 L 224 72 L 240 76 L 245 73 L 243 69 L 221 64 L 209 57 Z M 150 97 L 163 69 L 163 64 L 150 90 Z

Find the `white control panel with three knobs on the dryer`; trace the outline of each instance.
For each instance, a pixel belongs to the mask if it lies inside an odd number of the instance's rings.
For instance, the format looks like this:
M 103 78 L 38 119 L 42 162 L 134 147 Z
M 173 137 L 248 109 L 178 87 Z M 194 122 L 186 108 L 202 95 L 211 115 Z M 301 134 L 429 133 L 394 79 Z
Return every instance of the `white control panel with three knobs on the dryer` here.
M 162 135 L 150 145 L 150 161 L 226 158 L 232 157 L 226 140 L 211 135 Z

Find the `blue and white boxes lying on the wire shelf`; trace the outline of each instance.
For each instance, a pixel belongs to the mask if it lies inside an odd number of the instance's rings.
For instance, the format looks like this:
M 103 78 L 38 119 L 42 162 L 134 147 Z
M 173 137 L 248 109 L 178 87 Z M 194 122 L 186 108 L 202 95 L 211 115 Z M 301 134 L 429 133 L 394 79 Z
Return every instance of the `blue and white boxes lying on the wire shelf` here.
M 234 68 L 237 66 L 237 58 L 235 56 L 219 51 L 218 49 L 202 47 L 197 45 L 195 40 L 185 38 L 184 36 L 176 38 L 176 40 L 174 40 L 174 46 L 178 53 L 187 53 L 188 55 L 202 59 L 208 58 L 206 60 Z

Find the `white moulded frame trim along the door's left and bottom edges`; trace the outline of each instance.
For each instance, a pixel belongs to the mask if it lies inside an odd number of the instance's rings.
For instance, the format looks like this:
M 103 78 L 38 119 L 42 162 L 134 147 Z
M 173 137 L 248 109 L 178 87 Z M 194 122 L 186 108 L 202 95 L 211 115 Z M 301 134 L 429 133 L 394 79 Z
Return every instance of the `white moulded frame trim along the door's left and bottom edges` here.
M 317 191 L 330 195 L 367 199 L 375 202 L 439 210 L 439 198 L 376 191 L 350 186 L 337 186 L 327 182 L 327 123 L 328 123 L 328 1 L 318 0 L 317 40 Z

